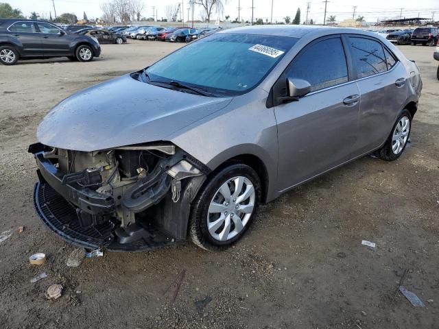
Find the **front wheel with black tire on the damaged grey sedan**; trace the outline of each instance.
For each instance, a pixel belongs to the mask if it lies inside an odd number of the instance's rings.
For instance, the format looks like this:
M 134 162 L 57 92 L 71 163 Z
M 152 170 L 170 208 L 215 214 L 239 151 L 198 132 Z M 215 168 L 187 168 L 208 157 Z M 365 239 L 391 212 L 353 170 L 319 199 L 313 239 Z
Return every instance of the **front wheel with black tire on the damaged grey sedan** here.
M 230 247 L 246 232 L 261 200 L 261 182 L 246 164 L 230 164 L 204 183 L 191 206 L 189 234 L 209 251 Z

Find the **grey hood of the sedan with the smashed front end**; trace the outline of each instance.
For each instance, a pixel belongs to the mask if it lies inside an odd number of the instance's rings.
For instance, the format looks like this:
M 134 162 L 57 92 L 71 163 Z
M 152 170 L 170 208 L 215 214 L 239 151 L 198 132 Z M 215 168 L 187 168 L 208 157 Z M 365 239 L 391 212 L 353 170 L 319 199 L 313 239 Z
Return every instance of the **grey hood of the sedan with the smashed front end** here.
M 45 145 L 76 151 L 166 141 L 230 100 L 182 93 L 123 75 L 58 103 L 38 125 L 36 136 Z

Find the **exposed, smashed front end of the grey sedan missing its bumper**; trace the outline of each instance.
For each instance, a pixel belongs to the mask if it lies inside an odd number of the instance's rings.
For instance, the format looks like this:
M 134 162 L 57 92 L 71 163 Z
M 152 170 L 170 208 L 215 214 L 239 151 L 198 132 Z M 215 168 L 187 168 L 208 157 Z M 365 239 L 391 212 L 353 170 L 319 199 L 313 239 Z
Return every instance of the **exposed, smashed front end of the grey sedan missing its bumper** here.
M 29 146 L 43 222 L 86 248 L 137 251 L 185 239 L 189 206 L 209 168 L 170 143 L 73 151 Z

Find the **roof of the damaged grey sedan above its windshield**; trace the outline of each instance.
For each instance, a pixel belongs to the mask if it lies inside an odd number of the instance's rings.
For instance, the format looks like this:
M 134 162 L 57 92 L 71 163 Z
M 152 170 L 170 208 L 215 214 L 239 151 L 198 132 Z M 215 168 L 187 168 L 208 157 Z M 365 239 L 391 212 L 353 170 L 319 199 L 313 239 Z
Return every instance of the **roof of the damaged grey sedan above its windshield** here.
M 334 33 L 355 33 L 370 35 L 361 29 L 352 29 L 348 27 L 330 27 L 318 25 L 253 25 L 235 27 L 232 29 L 225 29 L 218 33 L 235 33 L 235 34 L 262 34 L 270 36 L 290 36 L 292 38 L 302 38 L 306 34 L 318 32 Z

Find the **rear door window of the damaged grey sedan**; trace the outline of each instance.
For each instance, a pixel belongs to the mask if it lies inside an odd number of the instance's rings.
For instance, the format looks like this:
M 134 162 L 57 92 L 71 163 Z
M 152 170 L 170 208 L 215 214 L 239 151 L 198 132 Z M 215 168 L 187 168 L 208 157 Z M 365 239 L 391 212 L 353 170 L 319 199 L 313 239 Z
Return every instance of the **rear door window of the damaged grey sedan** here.
M 366 38 L 349 37 L 357 76 L 368 77 L 387 71 L 387 64 L 381 43 Z

